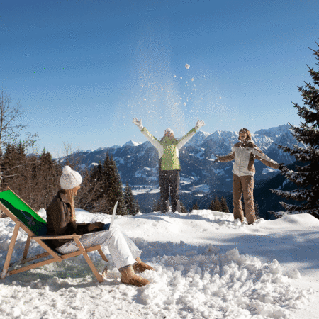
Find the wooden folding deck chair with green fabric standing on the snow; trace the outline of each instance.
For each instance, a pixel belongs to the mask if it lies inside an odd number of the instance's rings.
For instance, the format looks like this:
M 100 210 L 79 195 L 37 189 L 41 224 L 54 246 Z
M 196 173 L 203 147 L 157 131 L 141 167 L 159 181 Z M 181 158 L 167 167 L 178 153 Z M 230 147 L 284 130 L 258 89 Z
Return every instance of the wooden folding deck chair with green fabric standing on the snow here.
M 11 274 L 18 274 L 19 272 L 26 272 L 26 270 L 30 270 L 36 267 L 41 267 L 45 264 L 52 264 L 52 262 L 62 262 L 62 260 L 76 257 L 81 254 L 83 254 L 84 259 L 89 264 L 89 267 L 91 268 L 91 271 L 96 276 L 96 279 L 99 282 L 103 281 L 103 275 L 106 274 L 107 268 L 104 269 L 102 276 L 99 274 L 99 272 L 96 270 L 96 267 L 94 266 L 93 262 L 91 261 L 88 252 L 93 252 L 97 250 L 99 254 L 101 255 L 101 258 L 108 262 L 108 259 L 106 258 L 105 254 L 101 250 L 101 245 L 95 245 L 92 247 L 84 248 L 82 243 L 79 241 L 79 238 L 81 238 L 81 235 L 62 235 L 62 236 L 51 236 L 47 235 L 47 223 L 43 218 L 38 216 L 35 211 L 33 211 L 30 206 L 28 206 L 18 195 L 16 195 L 11 189 L 6 189 L 6 191 L 0 192 L 0 210 L 4 211 L 6 213 L 6 216 L 11 218 L 15 223 L 16 226 L 13 230 L 13 235 L 11 237 L 11 242 L 9 245 L 8 253 L 6 254 L 6 261 L 4 262 L 4 269 L 1 273 L 1 279 L 5 279 L 6 276 L 9 276 Z M 27 234 L 28 239 L 26 240 L 26 246 L 22 255 L 21 262 L 18 264 L 18 269 L 12 269 L 10 270 L 10 261 L 11 256 L 14 250 L 14 245 L 16 243 L 16 238 L 18 236 L 18 231 L 22 228 Z M 77 252 L 70 252 L 68 254 L 60 254 L 56 250 L 52 249 L 47 245 L 46 240 L 51 239 L 69 239 L 74 240 L 74 242 L 77 243 L 77 246 L 79 247 L 79 250 Z M 35 240 L 38 242 L 38 244 L 43 247 L 45 252 L 42 254 L 38 254 L 33 257 L 28 256 L 28 250 L 30 247 L 30 241 Z M 23 267 L 23 264 L 27 264 L 29 262 L 32 262 L 36 259 L 44 259 L 45 257 L 50 257 L 49 259 L 45 259 L 42 262 L 33 262 L 33 264 L 28 264 L 27 266 Z

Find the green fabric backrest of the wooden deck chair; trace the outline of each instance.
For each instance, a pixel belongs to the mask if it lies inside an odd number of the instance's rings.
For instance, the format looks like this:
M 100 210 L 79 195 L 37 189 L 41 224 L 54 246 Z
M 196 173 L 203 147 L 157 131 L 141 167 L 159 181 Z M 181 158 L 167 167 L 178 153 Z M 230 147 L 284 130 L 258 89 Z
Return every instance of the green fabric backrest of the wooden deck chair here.
M 35 235 L 42 236 L 47 234 L 46 221 L 38 216 L 38 214 L 18 195 L 14 194 L 11 189 L 0 192 L 0 202 Z

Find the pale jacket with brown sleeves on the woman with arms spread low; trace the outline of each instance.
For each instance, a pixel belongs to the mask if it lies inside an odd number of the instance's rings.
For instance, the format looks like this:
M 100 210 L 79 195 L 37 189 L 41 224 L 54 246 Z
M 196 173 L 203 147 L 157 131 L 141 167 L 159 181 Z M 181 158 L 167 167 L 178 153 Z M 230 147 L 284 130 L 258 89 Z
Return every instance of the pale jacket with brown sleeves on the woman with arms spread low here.
M 237 142 L 232 151 L 225 156 L 218 156 L 218 162 L 230 162 L 235 159 L 233 164 L 233 174 L 240 176 L 254 176 L 254 159 L 259 159 L 268 167 L 279 169 L 279 164 L 265 155 L 252 140 Z

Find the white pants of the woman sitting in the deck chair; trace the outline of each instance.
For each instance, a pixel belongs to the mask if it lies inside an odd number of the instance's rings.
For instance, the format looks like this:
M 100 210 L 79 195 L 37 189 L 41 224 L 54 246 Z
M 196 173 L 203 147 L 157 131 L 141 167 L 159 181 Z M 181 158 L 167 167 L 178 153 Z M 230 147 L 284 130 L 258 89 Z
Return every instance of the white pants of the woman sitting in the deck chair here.
M 80 242 L 84 248 L 94 245 L 106 245 L 117 269 L 135 264 L 135 259 L 140 257 L 142 252 L 121 228 L 113 226 L 111 230 L 102 230 L 96 233 L 82 235 Z M 77 247 L 77 243 L 74 242 L 74 240 L 71 240 L 56 250 L 61 254 L 67 254 L 69 252 L 76 252 L 79 250 L 79 247 Z

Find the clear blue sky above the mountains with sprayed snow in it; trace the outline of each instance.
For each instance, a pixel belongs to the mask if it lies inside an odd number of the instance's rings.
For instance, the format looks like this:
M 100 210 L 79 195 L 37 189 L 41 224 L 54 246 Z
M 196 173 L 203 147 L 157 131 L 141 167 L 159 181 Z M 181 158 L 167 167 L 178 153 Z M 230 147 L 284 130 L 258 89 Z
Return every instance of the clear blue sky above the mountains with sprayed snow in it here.
M 62 156 L 145 142 L 134 117 L 158 138 L 298 124 L 319 1 L 0 0 L 0 36 L 1 86 Z

